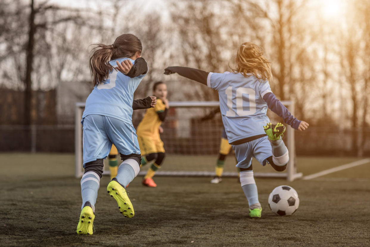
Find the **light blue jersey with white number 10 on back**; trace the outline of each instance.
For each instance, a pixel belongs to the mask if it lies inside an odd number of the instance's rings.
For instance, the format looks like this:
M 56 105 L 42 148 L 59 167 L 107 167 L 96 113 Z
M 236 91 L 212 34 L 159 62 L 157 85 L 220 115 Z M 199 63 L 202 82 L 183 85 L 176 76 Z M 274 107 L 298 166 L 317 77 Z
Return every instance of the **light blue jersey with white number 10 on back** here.
M 271 93 L 268 81 L 258 81 L 252 74 L 209 73 L 207 86 L 218 91 L 223 126 L 229 143 L 265 134 L 263 126 L 270 122 L 263 100 Z

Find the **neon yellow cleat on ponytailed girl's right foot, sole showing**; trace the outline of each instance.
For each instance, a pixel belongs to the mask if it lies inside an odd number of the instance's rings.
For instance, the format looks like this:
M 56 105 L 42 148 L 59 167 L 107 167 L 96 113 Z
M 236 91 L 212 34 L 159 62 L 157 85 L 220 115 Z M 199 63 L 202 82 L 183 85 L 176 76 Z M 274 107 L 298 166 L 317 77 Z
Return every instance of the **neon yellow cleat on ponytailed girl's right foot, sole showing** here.
M 132 207 L 131 201 L 127 196 L 128 193 L 125 188 L 118 183 L 116 178 L 113 178 L 108 184 L 107 192 L 117 201 L 118 209 L 120 209 L 121 214 L 127 218 L 134 217 L 134 208 Z

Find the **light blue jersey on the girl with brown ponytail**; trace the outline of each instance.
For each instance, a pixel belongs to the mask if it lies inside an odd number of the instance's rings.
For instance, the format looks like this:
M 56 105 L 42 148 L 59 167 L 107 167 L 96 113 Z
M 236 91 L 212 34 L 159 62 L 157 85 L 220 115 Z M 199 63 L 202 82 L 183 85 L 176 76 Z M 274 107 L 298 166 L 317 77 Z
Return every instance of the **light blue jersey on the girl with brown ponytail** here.
M 116 61 L 122 62 L 128 58 L 109 61 L 116 67 Z M 134 60 L 129 59 L 132 64 Z M 132 101 L 134 91 L 146 74 L 134 78 L 125 76 L 117 70 L 112 70 L 107 80 L 97 84 L 87 97 L 82 119 L 90 114 L 114 117 L 125 123 L 132 124 Z

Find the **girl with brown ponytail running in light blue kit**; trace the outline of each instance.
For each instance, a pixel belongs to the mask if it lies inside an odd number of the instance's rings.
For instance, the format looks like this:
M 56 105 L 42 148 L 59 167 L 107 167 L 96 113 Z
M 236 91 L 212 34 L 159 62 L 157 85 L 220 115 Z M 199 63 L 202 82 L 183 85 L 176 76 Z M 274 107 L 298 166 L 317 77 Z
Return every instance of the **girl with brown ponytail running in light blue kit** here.
M 125 217 L 134 216 L 134 209 L 125 187 L 139 173 L 141 155 L 132 126 L 134 91 L 148 73 L 148 64 L 141 58 L 141 41 L 132 34 L 122 34 L 111 45 L 97 44 L 90 57 L 94 89 L 87 97 L 83 124 L 83 164 L 81 178 L 82 207 L 78 234 L 92 234 L 95 202 L 106 158 L 112 143 L 122 163 L 107 191 Z M 118 66 L 115 67 L 114 66 Z

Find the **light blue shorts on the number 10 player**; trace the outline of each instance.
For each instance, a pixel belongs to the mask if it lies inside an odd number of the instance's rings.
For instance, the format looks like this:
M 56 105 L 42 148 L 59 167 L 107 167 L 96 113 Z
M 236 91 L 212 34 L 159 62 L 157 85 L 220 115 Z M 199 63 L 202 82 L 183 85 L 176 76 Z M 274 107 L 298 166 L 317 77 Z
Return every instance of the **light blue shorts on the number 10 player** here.
M 272 156 L 271 143 L 267 136 L 239 145 L 232 145 L 232 148 L 238 160 L 236 167 L 239 168 L 250 167 L 252 164 L 252 157 L 255 157 L 262 166 L 266 166 L 267 158 Z

